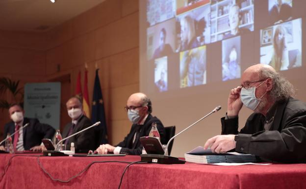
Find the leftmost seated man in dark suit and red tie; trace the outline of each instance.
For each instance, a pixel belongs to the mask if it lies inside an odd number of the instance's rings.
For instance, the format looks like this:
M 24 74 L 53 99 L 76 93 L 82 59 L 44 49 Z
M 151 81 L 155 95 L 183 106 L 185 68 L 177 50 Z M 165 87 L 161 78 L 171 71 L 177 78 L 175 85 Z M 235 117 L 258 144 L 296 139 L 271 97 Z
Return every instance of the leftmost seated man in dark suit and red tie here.
M 55 130 L 48 124 L 39 123 L 38 119 L 24 117 L 25 111 L 18 104 L 13 104 L 8 112 L 13 121 L 4 126 L 4 137 L 29 123 L 27 127 L 12 136 L 14 150 L 42 151 L 44 149 L 44 145 L 41 145 L 42 139 L 52 138 Z M 0 146 L 0 149 L 4 150 L 4 147 Z

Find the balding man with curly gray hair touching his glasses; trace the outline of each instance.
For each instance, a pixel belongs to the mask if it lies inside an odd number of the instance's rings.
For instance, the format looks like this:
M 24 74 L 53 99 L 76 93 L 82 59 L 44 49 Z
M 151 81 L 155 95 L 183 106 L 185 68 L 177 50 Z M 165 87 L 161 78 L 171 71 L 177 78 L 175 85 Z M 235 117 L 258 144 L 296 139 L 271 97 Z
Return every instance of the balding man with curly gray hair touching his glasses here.
M 208 139 L 204 149 L 224 153 L 234 149 L 265 161 L 306 162 L 306 103 L 292 98 L 293 85 L 271 66 L 246 69 L 241 85 L 231 89 L 222 135 Z M 242 106 L 254 111 L 238 133 Z

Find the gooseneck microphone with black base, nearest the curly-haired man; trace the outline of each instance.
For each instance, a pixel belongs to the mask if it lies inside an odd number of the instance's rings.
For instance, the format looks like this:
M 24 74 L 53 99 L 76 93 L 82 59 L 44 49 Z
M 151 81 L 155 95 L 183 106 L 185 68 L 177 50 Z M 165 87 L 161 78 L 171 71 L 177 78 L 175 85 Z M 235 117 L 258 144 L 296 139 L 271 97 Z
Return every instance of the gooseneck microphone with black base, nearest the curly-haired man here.
M 199 119 L 198 121 L 194 122 L 193 124 L 191 124 L 190 126 L 188 126 L 186 129 L 182 130 L 181 132 L 179 132 L 177 135 L 174 135 L 172 138 L 170 138 L 170 140 L 167 143 L 167 147 L 165 149 L 165 153 L 164 155 L 159 155 L 159 154 L 142 154 L 141 156 L 141 161 L 145 161 L 145 162 L 154 162 L 154 163 L 160 163 L 160 164 L 183 164 L 185 163 L 185 161 L 179 160 L 176 157 L 171 157 L 168 156 L 168 147 L 170 142 L 177 137 L 178 135 L 182 134 L 183 132 L 185 132 L 187 129 L 191 128 L 192 126 L 196 125 L 197 123 L 199 123 L 201 120 L 203 120 L 205 117 L 209 116 L 212 113 L 215 113 L 217 111 L 219 111 L 221 109 L 221 106 L 218 106 L 216 108 L 214 108 L 211 112 L 209 112 L 207 115 L 205 115 L 204 117 L 202 117 L 201 119 Z

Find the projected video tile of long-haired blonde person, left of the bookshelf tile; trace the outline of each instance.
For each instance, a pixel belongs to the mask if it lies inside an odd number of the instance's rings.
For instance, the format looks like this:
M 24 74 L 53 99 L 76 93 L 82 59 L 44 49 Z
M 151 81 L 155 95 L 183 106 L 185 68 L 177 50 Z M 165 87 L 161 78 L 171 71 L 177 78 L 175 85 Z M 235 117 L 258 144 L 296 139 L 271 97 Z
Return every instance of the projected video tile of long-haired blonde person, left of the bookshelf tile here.
M 177 17 L 177 53 L 210 43 L 209 13 L 206 4 Z

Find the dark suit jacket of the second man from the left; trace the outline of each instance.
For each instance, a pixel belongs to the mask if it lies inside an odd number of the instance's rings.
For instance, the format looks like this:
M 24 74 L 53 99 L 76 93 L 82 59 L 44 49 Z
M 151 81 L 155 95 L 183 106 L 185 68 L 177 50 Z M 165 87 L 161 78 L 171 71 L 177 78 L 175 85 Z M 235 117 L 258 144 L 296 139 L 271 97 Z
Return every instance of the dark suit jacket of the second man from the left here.
M 82 117 L 77 121 L 77 125 L 75 126 L 73 133 L 75 134 L 82 129 L 85 129 L 89 126 L 91 126 L 92 123 L 88 117 L 85 115 L 82 115 Z M 63 131 L 63 138 L 67 137 L 69 130 L 72 126 L 72 123 L 68 123 Z M 64 141 L 65 142 L 65 141 Z M 96 144 L 95 144 L 95 129 L 90 128 L 78 135 L 72 136 L 68 139 L 68 144 L 66 146 L 67 150 L 70 149 L 71 142 L 75 143 L 76 152 L 78 153 L 88 153 L 88 150 L 96 150 Z

